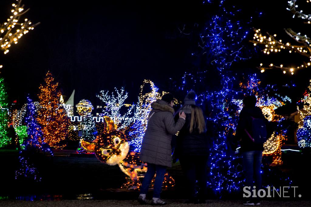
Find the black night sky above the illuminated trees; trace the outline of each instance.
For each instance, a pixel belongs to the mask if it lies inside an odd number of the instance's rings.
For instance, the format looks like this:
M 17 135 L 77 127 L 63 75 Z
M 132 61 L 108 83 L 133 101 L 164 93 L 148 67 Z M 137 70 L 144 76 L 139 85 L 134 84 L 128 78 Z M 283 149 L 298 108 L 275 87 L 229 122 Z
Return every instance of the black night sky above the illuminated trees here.
M 0 22 L 10 16 L 12 2 L 0 2 Z M 185 71 L 195 68 L 191 53 L 197 44 L 180 34 L 178 28 L 186 25 L 188 29 L 195 23 L 204 25 L 218 11 L 217 3 L 202 5 L 202 1 L 54 0 L 46 4 L 24 0 L 23 3 L 30 8 L 25 18 L 41 24 L 13 45 L 7 55 L 0 54 L 4 66 L 1 76 L 7 83 L 9 99 L 17 99 L 21 104 L 27 94 L 37 98 L 48 70 L 60 83 L 65 97 L 76 90 L 75 104 L 85 98 L 95 105 L 99 102 L 95 94 L 100 90 L 121 86 L 130 93 L 129 101 L 136 101 L 144 79 L 151 79 L 160 90 L 167 90 L 172 80 L 181 81 Z M 303 34 L 308 31 L 308 25 L 292 19 L 286 10 L 287 1 L 227 1 L 227 4 L 242 9 L 240 21 L 253 16 L 249 28 L 278 34 L 283 41 L 291 41 L 284 28 Z M 252 38 L 250 30 L 248 39 Z M 300 63 L 299 56 L 288 52 L 265 57 L 251 43 L 246 43 L 246 47 L 252 58 L 234 63 L 232 71 L 260 73 L 255 67 L 261 62 Z M 259 77 L 262 84 L 277 84 L 296 102 L 309 85 L 309 70 L 297 71 L 294 76 L 283 75 L 279 70 L 267 71 Z M 285 84 L 297 86 L 281 87 Z

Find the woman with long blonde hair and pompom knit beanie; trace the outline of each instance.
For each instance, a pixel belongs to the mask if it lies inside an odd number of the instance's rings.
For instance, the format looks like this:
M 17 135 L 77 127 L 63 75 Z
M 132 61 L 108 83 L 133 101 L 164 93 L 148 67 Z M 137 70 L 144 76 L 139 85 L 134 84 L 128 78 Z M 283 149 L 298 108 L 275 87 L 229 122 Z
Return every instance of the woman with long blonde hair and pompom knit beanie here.
M 205 203 L 207 158 L 209 154 L 205 118 L 202 109 L 196 105 L 196 94 L 189 91 L 179 112 L 186 114 L 186 122 L 176 137 L 174 151 L 180 161 L 187 180 L 189 198 L 186 203 Z M 196 180 L 200 190 L 196 192 Z

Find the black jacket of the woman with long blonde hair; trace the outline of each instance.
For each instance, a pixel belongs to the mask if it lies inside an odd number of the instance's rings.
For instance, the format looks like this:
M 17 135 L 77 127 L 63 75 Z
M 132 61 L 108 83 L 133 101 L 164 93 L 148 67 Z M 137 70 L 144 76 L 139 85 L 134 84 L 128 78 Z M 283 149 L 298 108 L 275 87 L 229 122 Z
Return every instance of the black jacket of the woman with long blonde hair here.
M 207 133 L 199 134 L 198 131 L 189 132 L 191 113 L 186 113 L 186 122 L 176 137 L 176 148 L 174 154 L 177 158 L 181 156 L 207 156 L 209 154 L 209 142 Z M 178 113 L 176 114 L 178 116 Z

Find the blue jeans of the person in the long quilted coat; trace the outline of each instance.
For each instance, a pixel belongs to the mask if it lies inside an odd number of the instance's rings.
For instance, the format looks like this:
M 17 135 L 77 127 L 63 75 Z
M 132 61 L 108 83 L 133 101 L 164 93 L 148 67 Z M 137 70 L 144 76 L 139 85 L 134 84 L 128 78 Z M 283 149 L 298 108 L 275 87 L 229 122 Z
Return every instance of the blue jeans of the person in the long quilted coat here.
M 166 166 L 147 163 L 147 167 L 148 167 L 147 173 L 142 181 L 142 187 L 140 189 L 140 193 L 147 194 L 151 180 L 153 176 L 156 174 L 153 197 L 160 198 L 160 193 L 161 193 L 162 185 L 164 181 L 164 175 L 166 172 Z

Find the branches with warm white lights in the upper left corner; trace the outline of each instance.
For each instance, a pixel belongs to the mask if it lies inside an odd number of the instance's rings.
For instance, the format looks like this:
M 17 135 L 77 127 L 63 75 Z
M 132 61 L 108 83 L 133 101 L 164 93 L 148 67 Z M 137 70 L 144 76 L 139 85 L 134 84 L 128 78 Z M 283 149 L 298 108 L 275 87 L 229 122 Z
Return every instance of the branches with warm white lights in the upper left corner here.
M 7 19 L 6 22 L 0 23 L 0 49 L 4 54 L 9 52 L 9 48 L 13 44 L 17 44 L 19 39 L 33 30 L 35 26 L 40 24 L 32 24 L 29 19 L 20 21 L 21 16 L 23 16 L 29 9 L 24 9 L 25 5 L 21 4 L 22 0 L 16 0 L 16 3 L 12 4 L 12 15 Z M 2 65 L 0 65 L 2 68 Z

